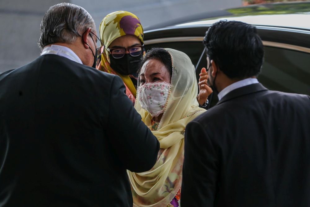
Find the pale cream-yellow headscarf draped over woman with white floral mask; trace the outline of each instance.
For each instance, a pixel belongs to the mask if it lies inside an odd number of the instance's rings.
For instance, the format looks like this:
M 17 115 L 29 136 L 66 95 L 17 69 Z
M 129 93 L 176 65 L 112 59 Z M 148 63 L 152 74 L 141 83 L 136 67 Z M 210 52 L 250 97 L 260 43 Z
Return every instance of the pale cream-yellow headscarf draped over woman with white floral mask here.
M 152 131 L 161 150 L 151 170 L 143 173 L 127 171 L 134 206 L 166 206 L 175 197 L 182 182 L 185 127 L 205 111 L 199 108 L 196 99 L 198 88 L 191 60 L 183 52 L 169 48 L 166 50 L 172 60 L 171 86 L 157 131 Z M 152 117 L 141 108 L 139 97 L 136 98 L 135 109 L 151 129 Z

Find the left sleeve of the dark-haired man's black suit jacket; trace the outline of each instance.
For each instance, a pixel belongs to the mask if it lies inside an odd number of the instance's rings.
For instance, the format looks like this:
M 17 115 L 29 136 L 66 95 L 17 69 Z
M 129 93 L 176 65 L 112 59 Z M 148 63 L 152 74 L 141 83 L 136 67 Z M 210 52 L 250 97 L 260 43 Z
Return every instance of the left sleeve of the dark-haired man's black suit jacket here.
M 185 130 L 181 206 L 214 206 L 218 158 L 200 123 L 192 121 Z

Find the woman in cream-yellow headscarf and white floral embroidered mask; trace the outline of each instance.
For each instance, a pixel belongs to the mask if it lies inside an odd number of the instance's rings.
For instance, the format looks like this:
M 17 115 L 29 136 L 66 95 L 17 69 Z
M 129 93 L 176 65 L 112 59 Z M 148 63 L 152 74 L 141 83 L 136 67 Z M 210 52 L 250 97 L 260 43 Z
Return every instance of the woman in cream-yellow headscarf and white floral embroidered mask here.
M 127 171 L 134 206 L 179 206 L 186 125 L 198 106 L 195 68 L 174 49 L 153 48 L 141 61 L 135 109 L 160 143 L 157 162 L 143 173 Z M 143 155 L 141 155 L 143 156 Z

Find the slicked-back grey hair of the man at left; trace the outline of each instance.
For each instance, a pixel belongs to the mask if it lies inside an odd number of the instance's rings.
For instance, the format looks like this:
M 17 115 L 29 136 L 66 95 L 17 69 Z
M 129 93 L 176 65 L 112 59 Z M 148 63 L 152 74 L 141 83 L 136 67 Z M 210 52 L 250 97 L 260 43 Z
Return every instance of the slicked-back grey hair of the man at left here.
M 42 50 L 52 43 L 72 43 L 88 28 L 95 30 L 96 27 L 84 8 L 70 3 L 56 4 L 47 10 L 42 19 L 38 46 Z

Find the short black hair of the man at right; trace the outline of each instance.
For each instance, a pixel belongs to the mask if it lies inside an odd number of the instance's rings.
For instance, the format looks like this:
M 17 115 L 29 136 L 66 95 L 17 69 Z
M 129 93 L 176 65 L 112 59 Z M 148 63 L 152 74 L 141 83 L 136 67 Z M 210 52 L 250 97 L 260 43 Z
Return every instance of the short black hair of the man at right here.
M 229 78 L 244 79 L 260 73 L 264 49 L 256 27 L 221 20 L 208 29 L 203 43 L 207 56 Z

